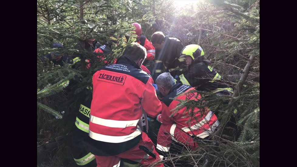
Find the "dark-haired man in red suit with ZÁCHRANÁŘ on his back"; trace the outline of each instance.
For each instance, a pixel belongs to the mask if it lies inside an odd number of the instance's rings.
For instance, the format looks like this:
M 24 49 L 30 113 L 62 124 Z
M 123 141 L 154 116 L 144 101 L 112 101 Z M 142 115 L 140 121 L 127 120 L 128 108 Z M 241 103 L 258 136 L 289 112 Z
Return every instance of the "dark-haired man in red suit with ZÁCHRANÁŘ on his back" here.
M 97 166 L 118 166 L 121 158 L 148 166 L 160 159 L 151 139 L 137 125 L 141 108 L 150 117 L 162 108 L 149 75 L 140 68 L 145 57 L 145 48 L 132 43 L 116 64 L 102 67 L 93 76 L 89 136 Z

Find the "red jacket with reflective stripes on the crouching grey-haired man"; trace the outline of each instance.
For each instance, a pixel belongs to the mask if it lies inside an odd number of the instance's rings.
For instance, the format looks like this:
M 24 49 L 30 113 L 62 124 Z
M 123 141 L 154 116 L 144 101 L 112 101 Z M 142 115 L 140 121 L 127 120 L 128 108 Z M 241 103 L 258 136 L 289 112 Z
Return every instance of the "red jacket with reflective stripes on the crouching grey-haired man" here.
M 197 96 L 196 92 L 187 93 L 190 90 L 195 89 L 191 86 L 183 84 L 175 84 L 169 90 L 169 94 L 162 100 L 162 116 L 160 121 L 165 125 L 176 123 L 176 127 L 185 131 L 186 133 L 200 138 L 205 138 L 209 136 L 207 130 L 212 131 L 219 125 L 217 116 L 213 114 L 212 111 L 210 111 L 207 107 L 202 112 L 198 108 L 195 108 L 193 113 L 196 113 L 194 114 L 196 118 L 193 118 L 193 116 L 191 117 L 188 112 L 186 112 L 186 107 L 182 108 L 169 118 L 172 112 L 175 112 L 174 110 L 171 110 L 180 103 L 179 101 L 170 98 L 174 98 L 179 94 L 177 97 L 179 100 L 186 100 L 187 98 L 189 100 L 198 101 L 201 99 L 200 94 Z

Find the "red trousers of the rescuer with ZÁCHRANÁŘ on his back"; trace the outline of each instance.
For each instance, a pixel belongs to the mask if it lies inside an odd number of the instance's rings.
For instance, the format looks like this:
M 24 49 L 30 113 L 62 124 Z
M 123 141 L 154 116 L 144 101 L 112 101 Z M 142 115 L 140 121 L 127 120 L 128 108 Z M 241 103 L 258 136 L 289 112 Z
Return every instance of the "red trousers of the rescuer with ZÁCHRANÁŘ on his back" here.
M 140 149 L 139 146 L 141 148 L 145 146 L 148 150 L 151 150 L 153 153 L 155 153 L 156 158 L 153 158 L 151 155 L 147 154 L 143 149 Z M 118 167 L 120 166 L 121 158 L 139 162 L 143 166 L 151 165 L 152 163 L 160 160 L 159 154 L 155 150 L 154 143 L 146 133 L 142 133 L 142 139 L 139 141 L 138 145 L 121 154 L 108 157 L 95 155 L 95 157 L 97 167 Z M 159 162 L 158 165 L 154 166 L 163 167 L 164 165 Z

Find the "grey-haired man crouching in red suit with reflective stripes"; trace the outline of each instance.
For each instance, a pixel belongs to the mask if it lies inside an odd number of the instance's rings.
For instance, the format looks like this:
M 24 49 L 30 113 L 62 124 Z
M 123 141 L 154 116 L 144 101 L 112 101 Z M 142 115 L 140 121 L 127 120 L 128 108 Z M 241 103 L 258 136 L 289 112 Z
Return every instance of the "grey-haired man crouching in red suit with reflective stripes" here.
M 158 132 L 156 147 L 160 157 L 162 158 L 169 153 L 172 140 L 195 150 L 198 147 L 196 138 L 207 138 L 219 125 L 217 116 L 208 108 L 205 108 L 204 111 L 195 108 L 193 113 L 196 114 L 194 116 L 189 115 L 192 111 L 186 112 L 186 107 L 177 112 L 172 111 L 180 103 L 172 98 L 198 101 L 201 99 L 200 94 L 196 92 L 187 93 L 195 89 L 188 85 L 175 84 L 175 80 L 170 73 L 160 74 L 155 83 L 164 96 L 162 99 L 162 114 L 157 116 L 157 120 L 162 123 Z M 169 118 L 172 113 L 174 114 Z

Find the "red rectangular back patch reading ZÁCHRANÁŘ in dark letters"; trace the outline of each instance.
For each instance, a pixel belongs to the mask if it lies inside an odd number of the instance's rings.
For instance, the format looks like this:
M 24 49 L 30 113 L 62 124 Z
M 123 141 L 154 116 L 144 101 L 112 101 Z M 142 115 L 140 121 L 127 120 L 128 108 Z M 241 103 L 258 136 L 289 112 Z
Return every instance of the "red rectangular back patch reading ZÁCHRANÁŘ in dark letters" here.
M 123 74 L 100 71 L 99 77 L 97 78 L 97 80 L 110 82 L 118 85 L 124 85 L 126 77 L 127 76 Z

